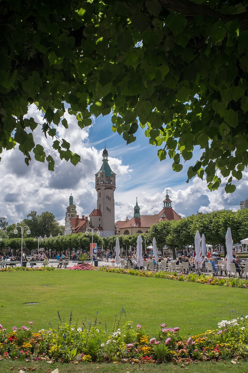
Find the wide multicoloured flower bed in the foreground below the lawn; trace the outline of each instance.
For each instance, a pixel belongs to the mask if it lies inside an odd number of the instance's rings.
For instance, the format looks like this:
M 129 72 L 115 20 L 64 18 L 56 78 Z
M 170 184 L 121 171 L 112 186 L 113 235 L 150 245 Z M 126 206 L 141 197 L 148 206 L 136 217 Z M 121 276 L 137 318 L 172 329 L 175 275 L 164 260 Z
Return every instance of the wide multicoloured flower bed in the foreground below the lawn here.
M 38 333 L 32 333 L 32 322 L 30 327 L 13 326 L 11 331 L 0 324 L 0 359 L 189 363 L 248 356 L 248 315 L 222 320 L 219 329 L 186 339 L 179 335 L 179 327 L 167 327 L 165 323 L 160 324 L 155 335 L 149 336 L 140 324 L 134 327 L 127 321 L 121 327 L 121 317 L 111 330 L 106 326 L 96 328 L 96 322 L 95 319 L 87 326 L 84 322 L 72 326 L 60 319 L 57 329 L 42 329 Z

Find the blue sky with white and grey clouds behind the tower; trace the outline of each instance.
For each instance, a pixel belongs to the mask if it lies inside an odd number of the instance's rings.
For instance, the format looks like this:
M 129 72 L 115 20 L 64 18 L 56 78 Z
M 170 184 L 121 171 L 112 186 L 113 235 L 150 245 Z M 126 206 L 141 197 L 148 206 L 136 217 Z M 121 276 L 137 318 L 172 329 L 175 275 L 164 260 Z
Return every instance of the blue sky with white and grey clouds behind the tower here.
M 42 115 L 36 106 L 29 109 L 39 123 Z M 32 210 L 41 214 L 49 211 L 64 225 L 69 197 L 77 207 L 77 214 L 89 216 L 96 208 L 95 173 L 102 164 L 102 151 L 106 144 L 109 166 L 116 173 L 115 221 L 130 219 L 134 214 L 136 197 L 140 214 L 152 215 L 162 210 L 166 189 L 172 200 L 172 208 L 187 217 L 197 211 L 207 213 L 222 209 L 239 209 L 239 202 L 248 197 L 248 170 L 236 182 L 236 191 L 225 193 L 225 179 L 219 189 L 210 192 L 206 179 L 193 178 L 188 184 L 187 169 L 198 159 L 196 148 L 193 158 L 186 162 L 181 172 L 172 170 L 172 160 L 159 161 L 158 148 L 149 144 L 144 130 L 139 128 L 136 141 L 126 145 L 122 136 L 111 130 L 111 115 L 92 118 L 92 125 L 80 129 L 74 116 L 66 113 L 69 128 L 58 126 L 57 135 L 71 144 L 71 151 L 81 156 L 81 162 L 74 167 L 70 162 L 60 160 L 52 146 L 52 138 L 42 134 L 41 126 L 34 131 L 35 142 L 41 144 L 47 154 L 55 159 L 54 172 L 48 171 L 47 163 L 37 162 L 31 153 L 28 166 L 18 147 L 1 154 L 0 162 L 0 216 L 9 224 L 20 222 Z

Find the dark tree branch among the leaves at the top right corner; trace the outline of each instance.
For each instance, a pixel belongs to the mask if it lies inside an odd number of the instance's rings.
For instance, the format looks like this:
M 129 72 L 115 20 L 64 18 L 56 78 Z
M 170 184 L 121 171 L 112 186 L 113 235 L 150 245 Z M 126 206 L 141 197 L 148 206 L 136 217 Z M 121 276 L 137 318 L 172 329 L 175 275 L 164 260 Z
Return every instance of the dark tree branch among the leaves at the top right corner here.
M 159 0 L 159 3 L 175 12 L 182 13 L 185 16 L 201 15 L 203 17 L 211 17 L 216 22 L 222 21 L 224 23 L 236 20 L 239 22 L 242 31 L 248 28 L 247 12 L 226 15 L 211 9 L 209 6 L 196 4 L 189 0 Z

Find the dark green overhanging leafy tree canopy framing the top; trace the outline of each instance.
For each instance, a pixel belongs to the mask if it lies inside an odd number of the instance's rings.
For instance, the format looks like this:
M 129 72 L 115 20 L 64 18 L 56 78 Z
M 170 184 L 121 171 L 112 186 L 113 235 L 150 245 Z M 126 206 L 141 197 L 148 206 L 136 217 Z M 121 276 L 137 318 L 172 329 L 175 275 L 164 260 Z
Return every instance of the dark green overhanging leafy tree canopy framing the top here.
M 80 128 L 112 113 L 128 143 L 139 126 L 160 160 L 188 180 L 242 178 L 248 164 L 247 0 L 54 0 L 0 2 L 0 152 L 18 144 L 28 165 L 51 154 L 33 132 L 53 138 L 61 159 L 80 156 L 57 138 L 64 117 Z M 26 116 L 34 103 L 43 123 Z

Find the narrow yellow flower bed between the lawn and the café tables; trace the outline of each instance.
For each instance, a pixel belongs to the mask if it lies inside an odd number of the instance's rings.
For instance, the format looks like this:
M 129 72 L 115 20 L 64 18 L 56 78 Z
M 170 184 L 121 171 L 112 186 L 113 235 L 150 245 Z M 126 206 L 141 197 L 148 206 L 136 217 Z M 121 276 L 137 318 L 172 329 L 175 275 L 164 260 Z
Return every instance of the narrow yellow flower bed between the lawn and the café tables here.
M 136 269 L 125 269 L 125 268 L 113 268 L 113 267 L 101 267 L 100 271 L 111 272 L 111 273 L 121 273 L 124 275 L 141 276 L 141 277 L 155 277 L 162 279 L 169 279 L 174 281 L 188 281 L 188 282 L 198 282 L 204 283 L 206 285 L 219 285 L 227 286 L 230 288 L 244 288 L 248 289 L 248 280 L 241 279 L 239 277 L 214 277 L 206 275 L 197 275 L 196 273 L 189 273 L 185 275 L 184 273 L 177 272 L 164 272 L 164 271 L 146 271 L 146 270 L 136 270 Z

